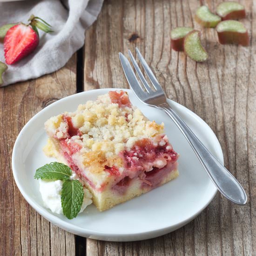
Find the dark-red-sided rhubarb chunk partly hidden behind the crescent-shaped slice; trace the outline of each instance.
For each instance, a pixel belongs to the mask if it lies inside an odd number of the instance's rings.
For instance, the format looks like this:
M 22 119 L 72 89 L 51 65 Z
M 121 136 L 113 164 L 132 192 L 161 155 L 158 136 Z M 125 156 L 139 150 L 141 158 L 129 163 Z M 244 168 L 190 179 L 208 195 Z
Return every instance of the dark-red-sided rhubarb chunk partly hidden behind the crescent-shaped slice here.
M 171 47 L 175 51 L 183 51 L 185 36 L 193 30 L 192 27 L 176 27 L 171 31 Z

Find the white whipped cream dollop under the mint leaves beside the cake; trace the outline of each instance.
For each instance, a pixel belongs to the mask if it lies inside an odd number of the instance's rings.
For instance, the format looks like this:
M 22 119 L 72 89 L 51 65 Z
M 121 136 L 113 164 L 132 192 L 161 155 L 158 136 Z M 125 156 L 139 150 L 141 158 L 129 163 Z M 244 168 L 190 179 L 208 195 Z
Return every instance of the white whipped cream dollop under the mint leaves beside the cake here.
M 71 180 L 79 180 L 78 176 L 73 173 L 70 176 Z M 50 209 L 53 213 L 63 214 L 61 208 L 61 189 L 63 181 L 46 181 L 39 179 L 39 190 L 43 199 L 44 206 Z M 79 213 L 83 212 L 92 201 L 92 194 L 86 188 L 84 189 L 84 199 L 81 205 L 81 210 Z

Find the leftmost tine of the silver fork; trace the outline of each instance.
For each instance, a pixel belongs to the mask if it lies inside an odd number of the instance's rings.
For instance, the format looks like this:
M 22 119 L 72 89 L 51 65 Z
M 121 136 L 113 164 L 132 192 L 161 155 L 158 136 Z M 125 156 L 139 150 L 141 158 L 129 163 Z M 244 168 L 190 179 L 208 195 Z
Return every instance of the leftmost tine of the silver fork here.
M 119 58 L 130 87 L 134 91 L 135 95 L 137 95 L 141 101 L 144 101 L 146 93 L 142 90 L 140 82 L 138 81 L 130 62 L 122 53 L 119 53 Z

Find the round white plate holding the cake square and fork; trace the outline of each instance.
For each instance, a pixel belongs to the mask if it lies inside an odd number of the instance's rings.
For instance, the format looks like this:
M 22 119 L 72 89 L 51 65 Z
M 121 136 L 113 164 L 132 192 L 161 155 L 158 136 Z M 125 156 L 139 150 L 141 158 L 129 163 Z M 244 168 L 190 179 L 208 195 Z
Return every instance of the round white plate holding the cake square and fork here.
M 39 182 L 33 177 L 37 168 L 54 161 L 42 152 L 47 141 L 44 122 L 53 115 L 74 111 L 78 104 L 94 100 L 109 90 L 111 89 L 98 89 L 68 96 L 44 108 L 27 122 L 15 141 L 12 156 L 13 176 L 21 194 L 50 222 L 71 233 L 89 238 L 135 241 L 161 236 L 182 227 L 211 202 L 216 194 L 216 187 L 173 121 L 162 111 L 141 103 L 131 90 L 127 90 L 131 102 L 144 115 L 150 120 L 165 123 L 165 132 L 175 151 L 180 154 L 179 177 L 104 212 L 99 212 L 94 205 L 90 205 L 73 220 L 53 214 L 43 207 Z M 174 101 L 170 101 L 170 104 L 209 151 L 223 163 L 221 146 L 211 128 L 189 109 Z

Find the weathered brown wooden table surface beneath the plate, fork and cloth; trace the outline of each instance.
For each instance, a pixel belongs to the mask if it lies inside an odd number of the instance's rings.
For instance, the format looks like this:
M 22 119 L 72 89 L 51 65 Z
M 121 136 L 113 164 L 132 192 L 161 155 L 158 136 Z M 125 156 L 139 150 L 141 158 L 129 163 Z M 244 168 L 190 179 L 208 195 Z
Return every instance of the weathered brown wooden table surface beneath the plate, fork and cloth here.
M 219 0 L 203 1 L 214 9 Z M 250 47 L 222 46 L 193 18 L 197 0 L 106 0 L 84 47 L 59 71 L 0 88 L 0 255 L 256 255 L 256 2 L 242 0 Z M 203 3 L 204 4 L 204 3 Z M 209 61 L 170 50 L 170 30 L 202 31 Z M 169 98 L 215 131 L 225 166 L 248 195 L 245 206 L 219 193 L 181 229 L 155 239 L 112 243 L 74 236 L 40 216 L 12 175 L 13 143 L 25 123 L 52 102 L 82 90 L 128 88 L 118 52 L 141 49 Z

